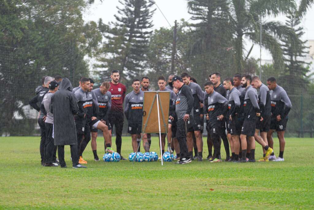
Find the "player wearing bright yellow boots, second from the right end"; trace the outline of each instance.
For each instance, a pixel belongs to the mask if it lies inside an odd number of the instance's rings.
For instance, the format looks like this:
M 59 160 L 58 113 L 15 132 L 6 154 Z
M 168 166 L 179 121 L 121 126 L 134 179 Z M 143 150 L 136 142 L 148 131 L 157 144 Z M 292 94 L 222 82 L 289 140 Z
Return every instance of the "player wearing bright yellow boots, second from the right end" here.
M 257 121 L 254 138 L 260 145 L 263 146 L 263 157 L 260 158 L 258 162 L 264 162 L 268 161 L 270 154 L 273 152 L 273 149 L 268 147 L 267 141 L 267 133 L 270 128 L 271 118 L 270 94 L 268 87 L 264 85 L 257 76 L 252 77 L 251 85 L 253 88 L 259 89 L 258 101 L 263 121 Z M 260 133 L 261 136 L 259 136 L 258 133 Z M 264 149 L 265 146 L 267 146 L 267 151 Z

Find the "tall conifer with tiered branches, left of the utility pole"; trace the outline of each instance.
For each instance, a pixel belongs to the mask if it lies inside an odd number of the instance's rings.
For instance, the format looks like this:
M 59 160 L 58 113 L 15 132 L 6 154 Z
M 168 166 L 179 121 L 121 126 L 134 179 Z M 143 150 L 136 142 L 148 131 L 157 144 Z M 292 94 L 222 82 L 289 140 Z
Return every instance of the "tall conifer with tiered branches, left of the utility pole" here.
M 101 68 L 102 79 L 112 70 L 119 70 L 122 82 L 128 83 L 145 71 L 155 9 L 151 9 L 153 3 L 146 0 L 120 0 L 119 3 L 122 7 L 117 7 L 113 26 L 104 27 L 100 21 L 106 41 L 100 48 L 96 67 Z

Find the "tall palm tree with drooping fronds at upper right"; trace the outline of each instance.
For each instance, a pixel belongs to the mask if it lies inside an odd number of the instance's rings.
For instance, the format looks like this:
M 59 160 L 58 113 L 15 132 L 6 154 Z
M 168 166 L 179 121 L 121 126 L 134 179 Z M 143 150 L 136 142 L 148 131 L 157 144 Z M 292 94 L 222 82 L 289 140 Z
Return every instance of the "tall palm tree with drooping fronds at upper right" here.
M 261 18 L 295 11 L 296 3 L 294 0 L 230 0 L 229 5 L 230 22 L 233 25 L 235 36 L 236 70 L 241 73 L 243 72 L 243 63 L 252 50 L 251 48 L 249 53 L 244 55 L 244 37 L 254 44 L 258 44 Z M 261 44 L 272 54 L 275 69 L 283 69 L 284 57 L 279 40 L 285 37 L 297 39 L 295 32 L 279 21 L 262 22 L 262 37 Z

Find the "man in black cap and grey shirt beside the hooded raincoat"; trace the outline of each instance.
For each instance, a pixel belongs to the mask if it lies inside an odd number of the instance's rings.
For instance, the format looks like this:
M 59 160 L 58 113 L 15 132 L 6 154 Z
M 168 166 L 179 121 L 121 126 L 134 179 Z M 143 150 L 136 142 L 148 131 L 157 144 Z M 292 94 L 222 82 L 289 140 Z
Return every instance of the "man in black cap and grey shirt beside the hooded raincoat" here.
M 46 126 L 46 144 L 45 144 L 45 167 L 55 166 L 58 164 L 55 163 L 57 146 L 54 145 L 54 140 L 52 137 L 53 132 L 53 114 L 50 112 L 51 106 L 51 97 L 58 90 L 59 83 L 56 80 L 53 80 L 49 83 L 49 91 L 45 94 L 41 102 L 41 112 L 46 116 L 45 117 L 45 126 Z

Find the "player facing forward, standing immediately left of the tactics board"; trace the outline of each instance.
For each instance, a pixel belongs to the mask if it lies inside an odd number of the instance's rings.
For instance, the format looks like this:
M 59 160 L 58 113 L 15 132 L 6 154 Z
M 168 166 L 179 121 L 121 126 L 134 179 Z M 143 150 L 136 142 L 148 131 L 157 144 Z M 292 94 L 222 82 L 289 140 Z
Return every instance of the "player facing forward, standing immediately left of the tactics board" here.
M 144 92 L 140 89 L 141 84 L 138 79 L 133 79 L 132 87 L 133 91 L 126 95 L 124 104 L 124 114 L 128 121 L 127 132 L 132 137 L 133 152 L 137 152 L 138 149 L 138 135 L 143 135 L 144 150 L 145 152 L 149 152 L 147 135 L 146 133 L 142 133 Z

